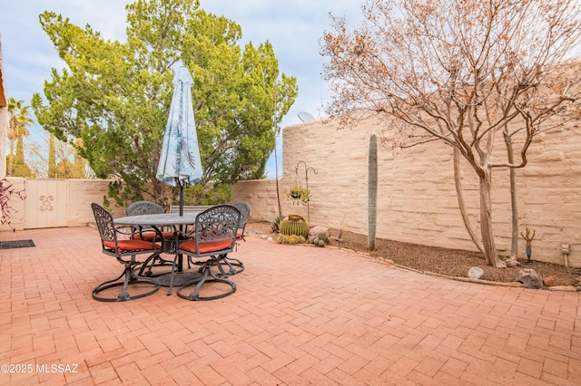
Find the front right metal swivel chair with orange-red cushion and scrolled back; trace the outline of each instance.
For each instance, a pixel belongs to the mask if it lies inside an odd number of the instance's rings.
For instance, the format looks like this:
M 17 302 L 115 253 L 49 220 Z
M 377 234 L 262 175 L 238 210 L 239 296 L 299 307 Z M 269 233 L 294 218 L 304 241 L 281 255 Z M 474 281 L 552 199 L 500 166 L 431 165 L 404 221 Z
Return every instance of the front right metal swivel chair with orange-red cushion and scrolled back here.
M 204 210 L 196 217 L 195 224 L 188 227 L 189 231 L 182 235 L 189 239 L 177 241 L 176 237 L 178 248 L 173 260 L 174 268 L 178 256 L 182 254 L 188 258 L 191 257 L 193 264 L 200 266 L 198 272 L 201 274 L 178 288 L 177 293 L 182 299 L 212 300 L 228 296 L 236 291 L 236 285 L 228 280 L 229 274 L 224 271 L 222 264 L 228 254 L 234 250 L 240 219 L 241 213 L 236 207 L 217 205 Z M 175 273 L 175 269 L 172 273 Z M 207 283 L 222 284 L 227 290 L 219 294 L 201 295 L 200 289 Z M 172 285 L 173 276 L 168 294 L 172 293 Z M 193 291 L 185 294 L 186 288 L 193 285 L 195 285 Z

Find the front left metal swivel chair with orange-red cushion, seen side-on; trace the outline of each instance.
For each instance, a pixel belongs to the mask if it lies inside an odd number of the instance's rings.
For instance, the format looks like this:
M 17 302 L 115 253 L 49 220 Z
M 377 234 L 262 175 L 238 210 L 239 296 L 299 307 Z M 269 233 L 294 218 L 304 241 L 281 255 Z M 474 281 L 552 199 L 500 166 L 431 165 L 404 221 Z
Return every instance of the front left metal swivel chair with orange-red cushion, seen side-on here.
M 93 298 L 101 302 L 123 302 L 127 300 L 139 299 L 141 297 L 154 294 L 160 289 L 160 285 L 150 278 L 135 275 L 135 269 L 140 265 L 147 265 L 152 259 L 162 253 L 162 243 L 158 244 L 155 239 L 150 241 L 142 240 L 136 235 L 131 227 L 115 227 L 113 225 L 113 215 L 99 204 L 91 204 L 94 220 L 101 236 L 103 254 L 113 256 L 119 263 L 124 265 L 121 275 L 113 280 L 107 280 L 94 287 Z M 148 255 L 145 260 L 138 261 L 138 255 Z M 129 294 L 129 285 L 153 285 L 153 289 L 139 294 Z M 117 296 L 106 296 L 101 294 L 106 289 L 122 286 L 122 290 Z

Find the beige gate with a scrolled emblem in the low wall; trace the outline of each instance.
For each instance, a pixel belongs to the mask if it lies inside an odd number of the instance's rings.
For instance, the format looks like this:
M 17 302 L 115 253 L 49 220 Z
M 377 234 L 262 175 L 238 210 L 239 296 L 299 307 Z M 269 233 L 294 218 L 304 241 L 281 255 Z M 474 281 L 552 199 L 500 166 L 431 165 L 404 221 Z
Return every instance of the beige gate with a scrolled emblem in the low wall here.
M 67 179 L 26 179 L 25 229 L 67 227 Z

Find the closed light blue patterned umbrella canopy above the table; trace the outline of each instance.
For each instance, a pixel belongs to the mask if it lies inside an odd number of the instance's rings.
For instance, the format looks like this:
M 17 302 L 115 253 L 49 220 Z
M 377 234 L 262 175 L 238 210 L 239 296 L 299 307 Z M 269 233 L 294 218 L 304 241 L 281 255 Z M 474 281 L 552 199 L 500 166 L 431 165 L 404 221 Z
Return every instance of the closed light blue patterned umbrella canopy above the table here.
M 173 78 L 170 116 L 163 135 L 156 178 L 171 187 L 195 185 L 202 179 L 202 161 L 193 120 L 192 75 L 180 67 Z

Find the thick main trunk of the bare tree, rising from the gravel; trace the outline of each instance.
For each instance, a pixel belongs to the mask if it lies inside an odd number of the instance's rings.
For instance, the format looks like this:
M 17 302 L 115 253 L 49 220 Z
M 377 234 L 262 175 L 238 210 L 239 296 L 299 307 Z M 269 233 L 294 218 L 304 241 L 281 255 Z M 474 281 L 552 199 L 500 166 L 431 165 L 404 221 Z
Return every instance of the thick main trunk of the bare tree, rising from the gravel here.
M 482 235 L 482 246 L 484 247 L 484 258 L 487 260 L 488 265 L 506 266 L 498 257 L 492 231 L 492 200 L 490 198 L 492 178 L 490 169 L 484 169 L 484 173 L 478 176 L 478 179 L 480 180 L 480 233 Z

